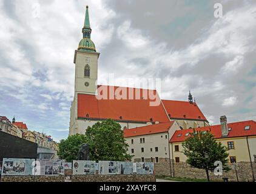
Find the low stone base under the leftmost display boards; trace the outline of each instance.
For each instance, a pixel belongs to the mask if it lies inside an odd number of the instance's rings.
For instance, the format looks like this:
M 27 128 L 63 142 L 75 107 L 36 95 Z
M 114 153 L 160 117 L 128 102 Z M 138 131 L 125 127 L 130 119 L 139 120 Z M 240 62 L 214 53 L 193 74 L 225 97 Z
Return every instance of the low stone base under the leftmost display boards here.
M 64 182 L 65 176 L 1 176 L 1 182 Z

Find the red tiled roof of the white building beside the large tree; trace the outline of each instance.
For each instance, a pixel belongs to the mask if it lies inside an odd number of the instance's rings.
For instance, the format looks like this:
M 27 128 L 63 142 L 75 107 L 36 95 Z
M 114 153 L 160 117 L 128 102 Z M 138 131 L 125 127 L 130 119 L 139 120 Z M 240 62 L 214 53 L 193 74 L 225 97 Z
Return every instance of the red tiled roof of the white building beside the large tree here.
M 147 125 L 144 127 L 136 127 L 134 129 L 126 129 L 124 130 L 124 138 L 168 132 L 173 122 L 175 121 L 163 122 L 155 125 Z

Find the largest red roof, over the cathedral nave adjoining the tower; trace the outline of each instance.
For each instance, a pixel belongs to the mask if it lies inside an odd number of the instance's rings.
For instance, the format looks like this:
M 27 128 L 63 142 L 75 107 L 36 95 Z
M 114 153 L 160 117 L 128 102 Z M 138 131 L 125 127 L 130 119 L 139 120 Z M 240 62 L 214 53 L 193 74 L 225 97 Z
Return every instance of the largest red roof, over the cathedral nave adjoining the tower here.
M 102 87 L 107 91 L 110 90 L 109 86 L 103 85 Z M 114 90 L 116 91 L 118 88 L 114 87 Z M 129 99 L 129 88 L 121 87 L 121 89 L 127 90 L 127 99 L 97 99 L 93 95 L 78 94 L 78 118 L 111 118 L 118 121 L 135 122 L 169 122 L 163 105 L 150 106 L 150 102 L 154 101 L 149 98 L 143 98 L 143 93 L 152 92 L 157 94 L 156 90 L 134 89 L 133 98 L 135 98 L 135 91 L 140 91 L 140 99 Z M 157 98 L 160 101 L 158 95 Z

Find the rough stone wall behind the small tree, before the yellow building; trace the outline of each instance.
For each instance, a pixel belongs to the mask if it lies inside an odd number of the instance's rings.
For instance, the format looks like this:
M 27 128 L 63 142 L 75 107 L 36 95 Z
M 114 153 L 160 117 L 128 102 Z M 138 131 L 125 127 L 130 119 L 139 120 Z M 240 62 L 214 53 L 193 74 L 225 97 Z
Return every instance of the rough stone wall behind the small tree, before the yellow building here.
M 253 169 L 254 169 L 254 177 L 256 178 L 256 163 L 253 162 Z M 210 178 L 212 180 L 223 180 L 223 177 L 229 178 L 229 181 L 238 181 L 241 182 L 248 182 L 253 181 L 252 176 L 252 168 L 250 162 L 239 162 L 237 163 L 237 175 L 235 172 L 234 167 L 232 167 L 232 164 L 229 165 L 231 170 L 229 172 L 223 172 L 223 176 L 215 176 L 213 172 L 210 172 Z M 196 179 L 206 179 L 206 172 L 202 169 L 196 169 L 193 167 L 190 167 L 189 164 L 186 164 L 186 162 L 181 163 L 175 163 L 174 164 L 174 176 L 175 177 L 186 177 L 186 178 L 196 178 Z

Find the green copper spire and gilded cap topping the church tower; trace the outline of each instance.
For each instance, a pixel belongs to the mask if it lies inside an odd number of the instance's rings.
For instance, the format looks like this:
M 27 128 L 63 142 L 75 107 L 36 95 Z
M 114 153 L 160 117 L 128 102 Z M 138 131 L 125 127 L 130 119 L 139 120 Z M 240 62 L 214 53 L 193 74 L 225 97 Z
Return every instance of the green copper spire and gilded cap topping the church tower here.
M 78 50 L 85 50 L 87 52 L 96 52 L 95 44 L 90 39 L 90 34 L 92 29 L 90 28 L 90 18 L 89 18 L 89 7 L 86 6 L 86 18 L 84 19 L 83 27 L 83 39 L 79 42 Z

